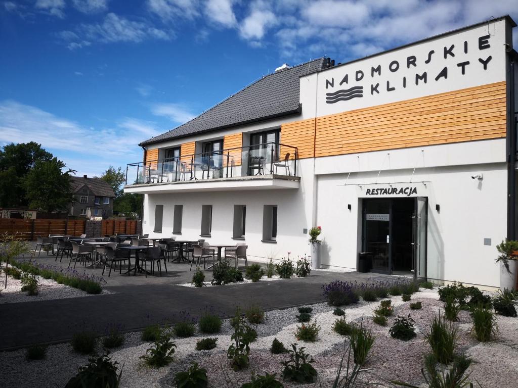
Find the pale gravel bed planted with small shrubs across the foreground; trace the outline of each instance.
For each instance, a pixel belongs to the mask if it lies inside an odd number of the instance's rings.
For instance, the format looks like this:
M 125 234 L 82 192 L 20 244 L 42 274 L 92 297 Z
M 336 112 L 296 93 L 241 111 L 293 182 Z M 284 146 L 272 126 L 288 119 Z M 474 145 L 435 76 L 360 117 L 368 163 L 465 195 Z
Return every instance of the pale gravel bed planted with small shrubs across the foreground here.
M 376 308 L 379 302 L 361 302 L 344 308 L 348 321 L 363 319 L 364 325 L 376 335 L 375 344 L 365 365 L 369 370 L 364 374 L 364 379 L 382 383 L 386 379 L 396 379 L 422 384 L 422 357 L 429 351 L 424 333 L 430 319 L 442 309 L 442 303 L 438 301 L 436 290 L 421 290 L 412 295 L 411 302 L 422 302 L 421 310 L 410 310 L 410 302 L 402 302 L 400 296 L 391 297 L 391 300 L 395 314 L 389 318 L 389 325 L 385 327 L 376 325 L 370 319 L 372 309 Z M 313 366 L 319 372 L 320 382 L 323 387 L 327 387 L 332 385 L 348 340 L 332 331 L 332 325 L 338 319 L 332 314 L 333 307 L 323 303 L 311 307 L 312 321 L 316 320 L 321 326 L 319 340 L 313 343 L 301 342 L 299 345 L 305 346 L 306 351 L 314 358 Z M 236 383 L 236 386 L 249 381 L 252 371 L 258 374 L 276 372 L 280 377 L 282 367 L 279 363 L 287 357 L 284 354 L 271 354 L 269 348 L 274 338 L 282 341 L 285 346 L 296 341 L 293 332 L 298 324 L 295 319 L 297 313 L 297 308 L 266 312 L 265 323 L 255 326 L 259 338 L 251 344 L 250 367 L 238 372 L 229 367 L 226 359 L 226 349 L 231 342 L 230 336 L 233 331 L 228 320 L 224 321 L 218 335 L 196 333 L 195 337 L 175 339 L 175 361 L 160 369 L 143 366 L 139 356 L 145 354 L 150 344 L 140 340 L 140 333 L 128 333 L 124 346 L 111 353 L 113 360 L 124 364 L 121 387 L 172 387 L 176 372 L 185 370 L 193 361 L 208 370 L 211 387 L 225 387 L 225 374 Z M 389 327 L 394 319 L 408 314 L 415 321 L 416 337 L 410 341 L 390 337 Z M 468 312 L 462 311 L 459 318 L 459 322 L 455 323 L 459 327 L 457 350 L 478 361 L 469 369 L 470 380 L 474 383 L 476 380 L 479 381 L 485 388 L 512 386 L 518 376 L 518 347 L 514 345 L 517 342 L 515 338 L 518 319 L 497 316 L 498 337 L 490 344 L 480 344 L 469 333 L 471 323 Z M 217 337 L 217 348 L 210 351 L 195 351 L 196 340 L 202 337 Z M 69 344 L 49 346 L 45 360 L 30 363 L 25 360 L 24 350 L 6 352 L 0 354 L 0 386 L 63 386 L 75 374 L 77 365 L 85 362 L 87 356 L 74 353 Z M 319 387 L 320 382 L 305 386 Z M 285 387 L 297 386 L 291 382 L 283 384 Z

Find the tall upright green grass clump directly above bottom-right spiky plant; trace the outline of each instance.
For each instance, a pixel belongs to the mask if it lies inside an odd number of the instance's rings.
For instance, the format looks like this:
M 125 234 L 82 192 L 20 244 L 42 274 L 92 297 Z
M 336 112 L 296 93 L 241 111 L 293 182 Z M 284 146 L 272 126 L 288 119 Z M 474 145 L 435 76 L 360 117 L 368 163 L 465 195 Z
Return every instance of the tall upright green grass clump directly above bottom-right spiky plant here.
M 430 322 L 430 329 L 425 334 L 431 351 L 441 364 L 449 364 L 454 359 L 457 342 L 457 329 L 439 313 Z

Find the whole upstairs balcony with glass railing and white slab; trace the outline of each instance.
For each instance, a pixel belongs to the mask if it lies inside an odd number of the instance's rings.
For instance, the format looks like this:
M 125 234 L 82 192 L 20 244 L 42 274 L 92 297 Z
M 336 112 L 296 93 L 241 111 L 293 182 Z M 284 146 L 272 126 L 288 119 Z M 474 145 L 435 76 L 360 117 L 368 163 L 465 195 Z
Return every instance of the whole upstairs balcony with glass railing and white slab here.
M 264 143 L 130 163 L 124 192 L 297 189 L 297 147 Z

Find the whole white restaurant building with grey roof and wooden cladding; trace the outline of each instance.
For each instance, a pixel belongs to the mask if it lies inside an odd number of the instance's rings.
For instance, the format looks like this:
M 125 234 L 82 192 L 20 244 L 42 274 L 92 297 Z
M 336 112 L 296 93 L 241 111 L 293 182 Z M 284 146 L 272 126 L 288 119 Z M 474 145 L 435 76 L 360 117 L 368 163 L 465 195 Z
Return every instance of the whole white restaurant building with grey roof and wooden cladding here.
M 280 259 L 321 226 L 323 267 L 368 251 L 373 272 L 497 287 L 495 245 L 516 235 L 515 25 L 281 66 L 142 142 L 125 192 L 145 195 L 143 231 Z

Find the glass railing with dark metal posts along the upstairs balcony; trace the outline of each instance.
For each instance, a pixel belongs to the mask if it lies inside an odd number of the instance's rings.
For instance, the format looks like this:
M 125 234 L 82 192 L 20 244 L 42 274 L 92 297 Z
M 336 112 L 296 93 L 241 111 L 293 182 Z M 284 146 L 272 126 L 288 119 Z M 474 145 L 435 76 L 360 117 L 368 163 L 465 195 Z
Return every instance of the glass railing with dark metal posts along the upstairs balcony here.
M 126 185 L 219 178 L 297 176 L 297 147 L 264 143 L 240 148 L 130 163 Z

